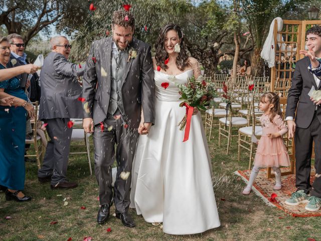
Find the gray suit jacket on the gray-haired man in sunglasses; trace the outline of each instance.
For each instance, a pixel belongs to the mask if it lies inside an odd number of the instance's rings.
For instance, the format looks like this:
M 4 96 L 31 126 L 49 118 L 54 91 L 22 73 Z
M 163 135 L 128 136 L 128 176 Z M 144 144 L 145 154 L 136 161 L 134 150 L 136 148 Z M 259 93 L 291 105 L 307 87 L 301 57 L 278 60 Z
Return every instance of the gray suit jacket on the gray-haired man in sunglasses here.
M 82 88 L 76 78 L 83 73 L 83 68 L 68 62 L 62 54 L 49 53 L 40 73 L 40 119 L 83 118 L 78 100 Z

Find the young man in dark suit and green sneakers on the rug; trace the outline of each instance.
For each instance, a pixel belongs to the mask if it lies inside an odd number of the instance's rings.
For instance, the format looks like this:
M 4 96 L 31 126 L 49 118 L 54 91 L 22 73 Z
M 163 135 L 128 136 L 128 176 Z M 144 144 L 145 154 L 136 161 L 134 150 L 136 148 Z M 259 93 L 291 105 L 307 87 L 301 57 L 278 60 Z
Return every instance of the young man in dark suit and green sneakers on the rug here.
M 288 205 L 307 203 L 305 209 L 317 211 L 321 206 L 321 100 L 316 101 L 311 92 L 320 90 L 320 80 L 311 73 L 318 66 L 315 59 L 321 57 L 321 27 L 314 26 L 306 31 L 308 51 L 301 50 L 306 57 L 297 61 L 291 88 L 288 90 L 286 121 L 289 138 L 294 135 L 295 143 L 295 187 Z M 293 121 L 294 114 L 295 122 Z M 315 179 L 310 185 L 312 142 L 314 141 Z M 310 194 L 310 196 L 309 196 Z

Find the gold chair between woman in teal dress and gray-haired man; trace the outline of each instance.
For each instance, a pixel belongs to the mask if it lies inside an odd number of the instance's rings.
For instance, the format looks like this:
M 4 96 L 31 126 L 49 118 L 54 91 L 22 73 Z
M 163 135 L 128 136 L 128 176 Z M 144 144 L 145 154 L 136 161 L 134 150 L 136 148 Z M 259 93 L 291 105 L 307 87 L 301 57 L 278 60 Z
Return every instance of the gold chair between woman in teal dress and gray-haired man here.
M 36 157 L 38 169 L 40 169 L 40 159 L 44 159 L 44 155 L 46 152 L 46 148 L 42 143 L 40 135 L 37 134 L 37 123 L 38 123 L 38 101 L 33 102 L 35 109 L 35 118 L 31 119 L 31 127 L 32 127 L 32 138 L 26 139 L 26 144 L 31 144 L 28 153 L 30 150 L 34 150 L 35 154 L 26 154 L 25 157 Z

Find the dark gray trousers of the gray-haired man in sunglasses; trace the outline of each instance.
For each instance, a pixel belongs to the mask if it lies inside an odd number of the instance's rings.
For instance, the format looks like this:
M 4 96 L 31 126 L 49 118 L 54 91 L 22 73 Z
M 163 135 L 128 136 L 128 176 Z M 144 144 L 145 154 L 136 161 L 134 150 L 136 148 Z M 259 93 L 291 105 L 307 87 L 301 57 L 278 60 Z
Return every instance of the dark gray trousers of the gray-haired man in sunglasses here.
M 72 134 L 72 128 L 67 126 L 69 121 L 70 118 L 45 120 L 45 123 L 48 123 L 46 128 L 50 141 L 48 142 L 42 168 L 38 171 L 38 176 L 47 177 L 52 175 L 51 185 L 67 181 L 68 155 Z

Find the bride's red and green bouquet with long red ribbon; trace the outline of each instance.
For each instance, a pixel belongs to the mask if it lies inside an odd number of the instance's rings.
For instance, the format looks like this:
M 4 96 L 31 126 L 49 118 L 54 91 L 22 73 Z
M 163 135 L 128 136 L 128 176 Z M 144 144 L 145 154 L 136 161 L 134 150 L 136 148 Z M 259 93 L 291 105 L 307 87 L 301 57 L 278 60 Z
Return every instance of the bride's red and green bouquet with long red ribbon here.
M 180 94 L 183 100 L 180 103 L 180 106 L 186 107 L 186 114 L 182 121 L 178 124 L 180 130 L 183 131 L 185 128 L 184 141 L 189 139 L 190 127 L 191 127 L 191 118 L 193 115 L 194 107 L 197 107 L 199 110 L 206 110 L 208 106 L 214 104 L 213 99 L 218 96 L 217 90 L 212 81 L 208 81 L 207 78 L 200 76 L 195 78 L 194 76 L 189 78 L 187 84 L 178 85 L 180 88 Z

